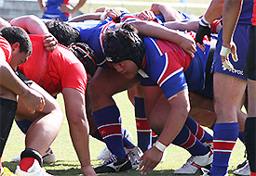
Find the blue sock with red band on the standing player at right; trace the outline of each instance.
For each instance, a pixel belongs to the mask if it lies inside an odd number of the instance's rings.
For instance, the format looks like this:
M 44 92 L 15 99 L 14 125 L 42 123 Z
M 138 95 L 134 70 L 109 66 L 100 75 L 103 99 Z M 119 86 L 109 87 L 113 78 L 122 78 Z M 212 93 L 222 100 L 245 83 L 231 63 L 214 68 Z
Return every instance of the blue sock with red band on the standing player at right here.
M 231 152 L 236 145 L 238 123 L 216 123 L 213 139 L 213 163 L 210 175 L 225 175 Z

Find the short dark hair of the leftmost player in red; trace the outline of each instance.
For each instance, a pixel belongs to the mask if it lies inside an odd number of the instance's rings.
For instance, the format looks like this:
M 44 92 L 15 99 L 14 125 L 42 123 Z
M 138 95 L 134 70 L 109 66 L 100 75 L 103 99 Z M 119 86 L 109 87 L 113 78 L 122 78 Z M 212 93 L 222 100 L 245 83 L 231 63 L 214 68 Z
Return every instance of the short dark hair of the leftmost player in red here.
M 0 30 L 0 35 L 4 37 L 9 44 L 20 44 L 20 53 L 25 52 L 29 56 L 32 54 L 32 43 L 26 31 L 17 26 L 4 27 Z

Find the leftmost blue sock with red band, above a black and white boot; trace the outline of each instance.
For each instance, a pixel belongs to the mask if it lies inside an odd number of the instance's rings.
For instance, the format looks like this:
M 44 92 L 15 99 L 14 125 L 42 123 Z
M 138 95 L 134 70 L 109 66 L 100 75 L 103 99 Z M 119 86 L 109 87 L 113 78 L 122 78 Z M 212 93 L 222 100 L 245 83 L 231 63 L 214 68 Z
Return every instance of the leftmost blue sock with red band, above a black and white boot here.
M 93 119 L 107 147 L 116 157 L 126 159 L 119 117 L 120 112 L 115 105 L 93 112 Z

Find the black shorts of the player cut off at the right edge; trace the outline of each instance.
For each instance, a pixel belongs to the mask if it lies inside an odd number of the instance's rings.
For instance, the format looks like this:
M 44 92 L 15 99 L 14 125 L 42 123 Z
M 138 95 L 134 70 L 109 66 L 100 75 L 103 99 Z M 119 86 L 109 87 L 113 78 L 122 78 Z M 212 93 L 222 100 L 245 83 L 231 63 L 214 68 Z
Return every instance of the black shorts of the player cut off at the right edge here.
M 245 75 L 249 80 L 256 81 L 256 26 L 249 29 L 249 50 L 245 67 Z

